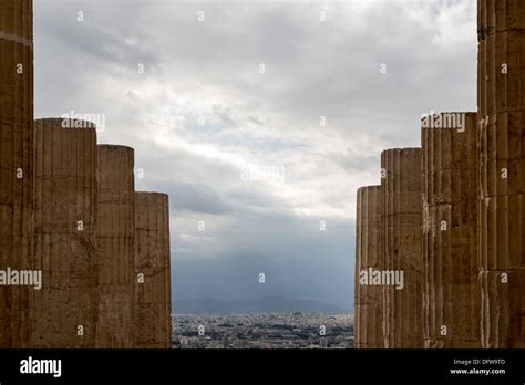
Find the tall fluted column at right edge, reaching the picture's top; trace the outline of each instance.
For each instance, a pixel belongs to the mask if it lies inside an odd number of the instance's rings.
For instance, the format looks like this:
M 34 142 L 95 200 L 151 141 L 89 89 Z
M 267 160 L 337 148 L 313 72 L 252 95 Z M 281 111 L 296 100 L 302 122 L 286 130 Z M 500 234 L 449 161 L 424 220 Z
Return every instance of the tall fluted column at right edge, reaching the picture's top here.
M 478 42 L 480 269 L 487 277 L 519 275 L 525 270 L 525 1 L 480 0 Z M 484 295 L 486 282 L 480 279 L 485 310 L 509 309 L 518 300 L 513 295 Z M 482 316 L 488 318 L 482 320 L 484 347 L 523 344 L 523 333 L 512 326 L 516 313 L 502 311 L 497 321 L 492 311 Z

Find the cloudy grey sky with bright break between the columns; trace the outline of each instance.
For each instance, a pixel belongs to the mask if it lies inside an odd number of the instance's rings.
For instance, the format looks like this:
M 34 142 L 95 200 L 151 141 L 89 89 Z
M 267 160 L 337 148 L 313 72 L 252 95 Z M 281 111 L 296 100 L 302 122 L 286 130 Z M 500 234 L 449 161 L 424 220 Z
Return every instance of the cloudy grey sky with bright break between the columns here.
M 422 114 L 476 110 L 475 14 L 34 0 L 35 116 L 100 114 L 99 143 L 135 148 L 137 190 L 169 194 L 174 299 L 351 310 L 356 189 L 379 183 L 382 149 L 420 144 Z

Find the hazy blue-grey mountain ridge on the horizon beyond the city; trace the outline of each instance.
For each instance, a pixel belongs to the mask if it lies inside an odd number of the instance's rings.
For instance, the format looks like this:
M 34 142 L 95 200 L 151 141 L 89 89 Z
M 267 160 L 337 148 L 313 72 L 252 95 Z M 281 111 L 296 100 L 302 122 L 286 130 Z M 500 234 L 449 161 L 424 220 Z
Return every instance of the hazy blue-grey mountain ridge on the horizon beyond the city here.
M 343 309 L 315 300 L 288 300 L 281 296 L 260 296 L 234 301 L 220 301 L 213 298 L 179 300 L 173 302 L 174 314 L 202 313 L 349 313 Z

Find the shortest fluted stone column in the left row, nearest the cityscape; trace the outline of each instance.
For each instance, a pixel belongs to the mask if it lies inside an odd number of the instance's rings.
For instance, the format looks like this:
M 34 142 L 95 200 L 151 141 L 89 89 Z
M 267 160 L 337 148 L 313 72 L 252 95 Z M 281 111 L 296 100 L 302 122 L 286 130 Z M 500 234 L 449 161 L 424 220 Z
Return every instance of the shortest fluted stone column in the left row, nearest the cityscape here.
M 134 347 L 169 348 L 172 295 L 169 202 L 166 194 L 135 192 Z

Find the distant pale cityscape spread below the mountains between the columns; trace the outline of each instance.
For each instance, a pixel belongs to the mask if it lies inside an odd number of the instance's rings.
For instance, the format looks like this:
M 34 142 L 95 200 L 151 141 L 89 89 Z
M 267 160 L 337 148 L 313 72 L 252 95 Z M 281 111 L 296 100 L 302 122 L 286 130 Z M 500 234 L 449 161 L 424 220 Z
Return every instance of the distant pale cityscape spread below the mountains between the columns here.
M 353 314 L 174 314 L 173 348 L 353 348 Z

